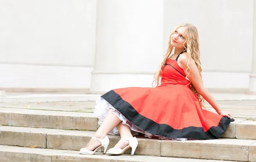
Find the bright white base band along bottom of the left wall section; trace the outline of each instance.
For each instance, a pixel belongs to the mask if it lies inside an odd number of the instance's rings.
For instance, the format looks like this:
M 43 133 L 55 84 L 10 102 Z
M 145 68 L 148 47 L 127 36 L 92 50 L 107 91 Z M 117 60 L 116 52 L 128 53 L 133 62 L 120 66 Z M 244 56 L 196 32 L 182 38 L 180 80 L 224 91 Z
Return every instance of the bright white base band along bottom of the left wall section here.
M 1 88 L 87 88 L 93 68 L 0 64 Z M 87 86 L 87 87 L 86 87 Z

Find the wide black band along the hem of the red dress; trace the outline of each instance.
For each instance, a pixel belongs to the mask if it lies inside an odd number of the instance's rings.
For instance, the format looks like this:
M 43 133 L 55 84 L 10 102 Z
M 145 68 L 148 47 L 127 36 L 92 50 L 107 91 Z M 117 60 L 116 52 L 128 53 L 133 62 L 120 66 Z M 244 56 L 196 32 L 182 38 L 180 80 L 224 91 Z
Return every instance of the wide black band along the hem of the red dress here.
M 167 124 L 158 124 L 139 114 L 130 103 L 123 100 L 119 94 L 111 90 L 102 95 L 102 98 L 108 101 L 117 111 L 119 111 L 129 122 L 138 128 L 150 134 L 165 136 L 167 138 L 186 138 L 186 139 L 218 139 L 227 130 L 230 122 L 234 119 L 222 117 L 218 126 L 212 126 L 208 131 L 202 127 L 186 127 L 183 129 L 174 129 Z

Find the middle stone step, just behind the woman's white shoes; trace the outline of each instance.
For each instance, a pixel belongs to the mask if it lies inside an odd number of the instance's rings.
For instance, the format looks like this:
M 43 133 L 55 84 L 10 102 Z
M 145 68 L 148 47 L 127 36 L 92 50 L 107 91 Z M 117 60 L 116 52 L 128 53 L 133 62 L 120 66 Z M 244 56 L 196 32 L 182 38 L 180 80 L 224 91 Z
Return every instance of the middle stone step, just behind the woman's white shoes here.
M 46 128 L 0 126 L 0 145 L 37 146 L 64 150 L 79 150 L 93 136 L 93 131 L 71 131 Z M 108 135 L 112 148 L 119 136 Z M 256 140 L 214 139 L 169 141 L 137 137 L 135 155 L 170 156 L 196 159 L 256 161 Z M 128 150 L 126 153 L 130 153 Z

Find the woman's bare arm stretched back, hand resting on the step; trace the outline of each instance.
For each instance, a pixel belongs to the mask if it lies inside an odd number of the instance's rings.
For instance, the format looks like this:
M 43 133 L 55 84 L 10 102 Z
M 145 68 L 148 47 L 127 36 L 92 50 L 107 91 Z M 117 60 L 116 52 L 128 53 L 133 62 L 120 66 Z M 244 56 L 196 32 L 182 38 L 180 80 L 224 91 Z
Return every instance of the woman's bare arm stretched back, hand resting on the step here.
M 178 60 L 178 65 L 184 70 L 185 73 L 186 73 L 186 69 L 188 68 L 187 67 L 188 59 L 189 59 L 189 54 L 183 53 L 182 55 L 180 55 L 179 60 Z M 207 89 L 204 88 L 203 80 L 200 77 L 198 68 L 195 65 L 195 61 L 192 58 L 190 58 L 190 61 L 189 61 L 189 68 L 190 68 L 190 71 L 188 71 L 189 72 L 188 78 L 192 82 L 192 84 L 194 85 L 194 87 L 198 91 L 198 93 L 205 100 L 207 100 L 207 102 L 209 102 L 210 105 L 212 105 L 212 107 L 215 109 L 215 111 L 219 115 L 233 119 L 230 112 L 221 111 L 221 109 L 219 108 L 215 99 L 212 97 L 212 95 L 209 93 L 209 91 L 207 91 Z M 186 75 L 187 75 L 187 73 L 186 73 Z

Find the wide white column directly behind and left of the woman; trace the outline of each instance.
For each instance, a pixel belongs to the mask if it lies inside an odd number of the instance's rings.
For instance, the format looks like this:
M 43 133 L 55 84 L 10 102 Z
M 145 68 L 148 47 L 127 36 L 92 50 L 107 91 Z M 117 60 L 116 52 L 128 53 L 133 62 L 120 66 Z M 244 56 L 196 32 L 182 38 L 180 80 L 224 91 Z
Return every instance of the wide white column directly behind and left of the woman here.
M 163 0 L 97 0 L 91 93 L 150 87 L 163 52 Z

